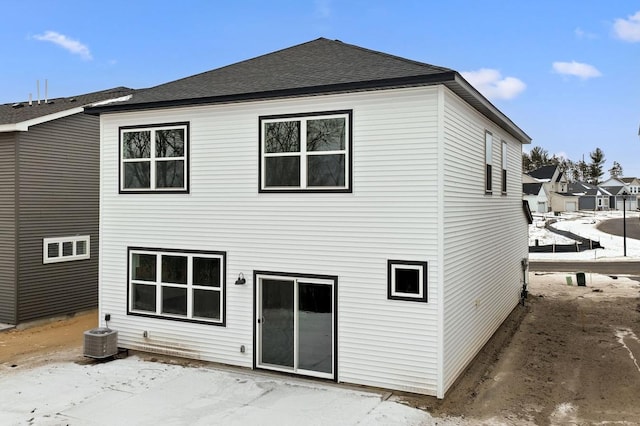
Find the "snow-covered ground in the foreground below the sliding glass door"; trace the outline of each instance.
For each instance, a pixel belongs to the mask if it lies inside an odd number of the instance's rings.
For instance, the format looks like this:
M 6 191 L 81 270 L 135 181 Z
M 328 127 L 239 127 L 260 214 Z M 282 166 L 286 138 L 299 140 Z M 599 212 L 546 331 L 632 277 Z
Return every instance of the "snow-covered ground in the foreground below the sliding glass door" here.
M 0 365 L 0 370 L 2 370 Z M 2 425 L 469 425 L 312 380 L 187 367 L 137 356 L 0 374 Z

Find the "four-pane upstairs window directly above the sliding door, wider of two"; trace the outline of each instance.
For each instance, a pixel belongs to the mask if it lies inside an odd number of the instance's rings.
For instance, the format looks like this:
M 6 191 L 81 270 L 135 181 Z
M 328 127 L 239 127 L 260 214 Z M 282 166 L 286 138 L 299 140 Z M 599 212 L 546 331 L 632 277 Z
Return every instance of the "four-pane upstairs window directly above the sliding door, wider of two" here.
M 352 111 L 260 117 L 260 192 L 350 192 Z

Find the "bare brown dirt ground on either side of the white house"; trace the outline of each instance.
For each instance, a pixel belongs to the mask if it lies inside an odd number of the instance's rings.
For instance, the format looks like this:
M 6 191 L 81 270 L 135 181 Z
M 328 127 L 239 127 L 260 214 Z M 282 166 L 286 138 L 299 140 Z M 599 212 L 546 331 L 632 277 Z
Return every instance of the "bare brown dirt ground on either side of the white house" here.
M 518 306 L 444 400 L 396 395 L 439 417 L 469 424 L 640 424 L 640 283 L 587 274 L 530 274 Z M 82 362 L 92 311 L 0 332 L 0 371 Z M 175 362 L 175 361 L 174 361 Z

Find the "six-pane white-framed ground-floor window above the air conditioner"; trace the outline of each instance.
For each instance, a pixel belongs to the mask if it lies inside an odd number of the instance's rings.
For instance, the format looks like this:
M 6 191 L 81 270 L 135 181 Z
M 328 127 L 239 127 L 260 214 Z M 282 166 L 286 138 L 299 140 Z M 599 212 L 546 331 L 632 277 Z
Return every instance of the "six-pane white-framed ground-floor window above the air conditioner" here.
M 226 253 L 128 250 L 128 313 L 224 325 Z

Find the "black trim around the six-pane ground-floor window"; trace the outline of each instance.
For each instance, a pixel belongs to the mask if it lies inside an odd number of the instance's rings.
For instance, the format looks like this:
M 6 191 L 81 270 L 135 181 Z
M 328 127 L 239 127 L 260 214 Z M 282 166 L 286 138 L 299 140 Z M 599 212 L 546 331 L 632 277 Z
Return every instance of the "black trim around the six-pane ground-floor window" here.
M 143 312 L 135 312 L 131 310 L 131 252 L 132 251 L 150 251 L 156 253 L 186 253 L 186 254 L 213 254 L 222 257 L 222 282 L 220 283 L 221 291 L 222 291 L 222 315 L 220 321 L 206 321 L 199 320 L 193 318 L 182 318 L 182 317 L 172 317 L 166 315 L 157 315 L 157 314 L 149 314 Z M 137 317 L 145 317 L 145 318 L 156 318 L 161 320 L 168 321 L 178 321 L 178 322 L 188 322 L 195 324 L 205 324 L 212 325 L 216 327 L 226 327 L 227 324 L 227 252 L 226 251 L 217 251 L 217 250 L 183 250 L 183 249 L 172 249 L 172 248 L 155 248 L 155 247 L 138 247 L 138 246 L 129 246 L 127 247 L 127 315 L 137 316 Z

